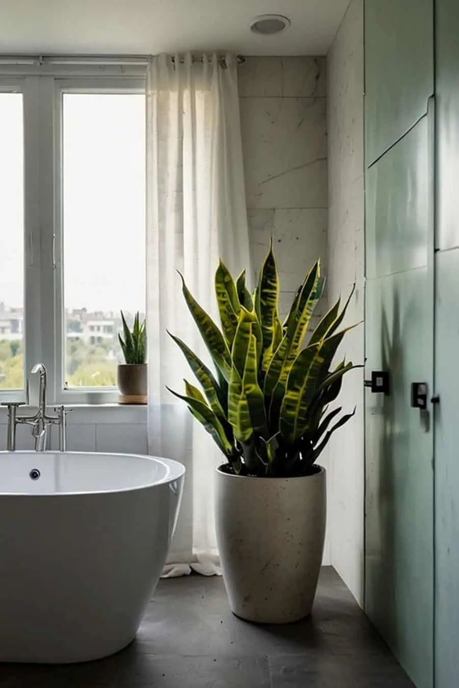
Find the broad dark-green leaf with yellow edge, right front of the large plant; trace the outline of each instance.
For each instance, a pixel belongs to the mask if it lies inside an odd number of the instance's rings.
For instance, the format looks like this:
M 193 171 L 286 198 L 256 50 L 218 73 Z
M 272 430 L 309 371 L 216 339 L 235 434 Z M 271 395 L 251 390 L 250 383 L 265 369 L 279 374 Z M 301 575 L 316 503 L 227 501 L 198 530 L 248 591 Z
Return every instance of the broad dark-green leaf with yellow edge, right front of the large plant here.
M 318 343 L 306 347 L 292 365 L 279 416 L 279 430 L 288 444 L 294 444 L 303 434 L 322 364 L 321 345 Z

